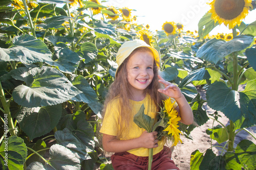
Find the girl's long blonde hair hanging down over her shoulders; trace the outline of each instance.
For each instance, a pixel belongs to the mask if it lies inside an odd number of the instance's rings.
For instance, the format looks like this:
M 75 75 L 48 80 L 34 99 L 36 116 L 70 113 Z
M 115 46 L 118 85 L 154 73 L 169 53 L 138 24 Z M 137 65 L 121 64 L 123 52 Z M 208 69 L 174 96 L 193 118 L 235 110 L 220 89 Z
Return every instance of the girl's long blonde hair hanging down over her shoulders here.
M 123 63 L 120 65 L 116 79 L 114 82 L 111 84 L 109 87 L 108 94 L 106 95 L 106 100 L 104 102 L 104 107 L 103 107 L 103 117 L 105 115 L 106 107 L 108 104 L 111 104 L 111 102 L 118 98 L 119 99 L 119 108 L 116 108 L 120 112 L 120 117 L 119 121 L 121 122 L 119 124 L 121 131 L 118 132 L 117 138 L 119 135 L 122 133 L 123 130 L 129 129 L 130 123 L 131 123 L 131 114 L 132 113 L 132 108 L 130 105 L 130 100 L 129 100 L 129 94 L 131 94 L 131 89 L 130 89 L 130 83 L 127 80 L 127 61 L 131 58 L 132 55 L 134 55 L 137 52 L 150 52 L 150 48 L 148 47 L 138 47 L 136 48 L 129 57 L 127 57 Z M 153 53 L 152 53 L 153 54 Z M 145 94 L 150 94 L 152 101 L 154 104 L 157 106 L 157 111 L 160 111 L 160 106 L 162 106 L 162 100 L 166 99 L 166 96 L 162 93 L 159 93 L 157 90 L 161 88 L 160 83 L 158 82 L 158 67 L 156 65 L 156 62 L 154 60 L 154 77 L 150 85 L 146 87 Z

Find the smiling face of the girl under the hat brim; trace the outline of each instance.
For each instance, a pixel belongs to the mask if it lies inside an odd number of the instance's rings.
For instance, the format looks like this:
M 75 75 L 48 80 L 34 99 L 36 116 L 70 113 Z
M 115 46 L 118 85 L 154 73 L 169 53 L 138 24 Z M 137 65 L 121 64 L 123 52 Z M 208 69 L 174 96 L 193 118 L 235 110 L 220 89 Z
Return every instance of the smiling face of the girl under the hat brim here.
M 144 92 L 154 77 L 154 56 L 150 52 L 136 52 L 127 62 L 127 79 L 134 95 Z

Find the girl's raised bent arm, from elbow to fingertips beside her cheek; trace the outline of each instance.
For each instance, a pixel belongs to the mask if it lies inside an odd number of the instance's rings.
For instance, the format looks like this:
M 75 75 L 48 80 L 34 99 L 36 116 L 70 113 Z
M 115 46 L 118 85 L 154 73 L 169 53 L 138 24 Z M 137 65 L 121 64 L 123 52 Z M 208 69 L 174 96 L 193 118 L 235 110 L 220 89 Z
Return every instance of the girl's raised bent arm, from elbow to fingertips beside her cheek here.
M 177 107 L 179 107 L 177 110 L 180 110 L 180 121 L 186 125 L 193 124 L 193 112 L 180 88 L 172 83 L 166 82 L 160 75 L 158 75 L 158 78 L 160 79 L 159 83 L 162 83 L 165 86 L 164 89 L 158 89 L 158 91 L 176 100 L 178 104 Z

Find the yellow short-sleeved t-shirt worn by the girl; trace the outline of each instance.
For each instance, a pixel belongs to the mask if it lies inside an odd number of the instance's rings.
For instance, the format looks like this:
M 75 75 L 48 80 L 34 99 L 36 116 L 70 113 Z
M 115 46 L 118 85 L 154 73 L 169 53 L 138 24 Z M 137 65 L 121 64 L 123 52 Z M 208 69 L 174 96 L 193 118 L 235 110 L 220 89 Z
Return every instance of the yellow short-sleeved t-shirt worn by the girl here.
M 156 116 L 157 116 L 157 108 L 156 105 L 154 104 L 154 102 L 151 100 L 150 95 L 146 95 L 145 99 L 143 99 L 142 101 L 136 102 L 136 101 L 132 101 L 130 100 L 132 108 L 134 108 L 134 112 L 132 113 L 132 117 L 138 113 L 140 107 L 142 104 L 144 104 L 145 110 L 144 113 L 151 116 L 152 118 L 154 118 L 155 123 L 157 122 Z M 112 136 L 117 136 L 118 131 L 120 131 L 120 122 L 119 122 L 119 116 L 120 116 L 120 112 L 118 110 L 119 106 L 119 100 L 114 99 L 112 102 L 110 102 L 110 104 L 107 106 L 106 108 L 106 112 L 105 112 L 105 116 L 103 119 L 103 123 L 102 123 L 102 127 L 100 129 L 100 133 L 104 133 L 107 135 L 112 135 Z M 177 104 L 175 103 L 176 107 Z M 121 133 L 119 139 L 120 140 L 127 140 L 127 139 L 133 139 L 133 138 L 137 138 L 139 137 L 142 132 L 144 132 L 145 130 L 142 128 L 139 128 L 134 122 L 133 122 L 133 118 L 131 119 L 132 123 L 131 126 L 129 127 L 129 130 L 127 133 Z M 162 151 L 163 146 L 165 144 L 165 140 L 159 140 L 158 141 L 158 147 L 154 148 L 153 150 L 153 155 L 159 153 L 160 151 Z M 137 148 L 137 149 L 133 149 L 133 150 L 129 150 L 127 151 L 131 154 L 134 154 L 136 156 L 148 156 L 148 149 L 147 148 Z

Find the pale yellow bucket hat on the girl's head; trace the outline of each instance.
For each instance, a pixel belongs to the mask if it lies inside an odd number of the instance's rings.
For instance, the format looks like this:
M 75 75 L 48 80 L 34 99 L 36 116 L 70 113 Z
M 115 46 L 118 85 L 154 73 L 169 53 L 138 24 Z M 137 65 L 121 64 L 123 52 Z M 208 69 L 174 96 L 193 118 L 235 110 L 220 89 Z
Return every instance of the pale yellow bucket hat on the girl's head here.
M 156 64 L 158 67 L 160 67 L 160 57 L 159 57 L 159 53 L 158 51 L 151 47 L 150 45 L 148 45 L 147 43 L 145 43 L 145 41 L 140 40 L 140 39 L 135 39 L 132 41 L 126 41 L 124 42 L 121 47 L 119 48 L 117 55 L 116 55 L 116 62 L 118 64 L 118 67 L 116 69 L 116 75 L 117 75 L 117 71 L 118 68 L 120 67 L 120 65 L 123 63 L 123 61 L 130 56 L 130 54 L 138 47 L 148 47 L 150 48 L 150 50 L 152 51 L 153 55 L 154 55 L 154 59 L 156 61 Z M 115 76 L 116 76 L 115 75 Z

